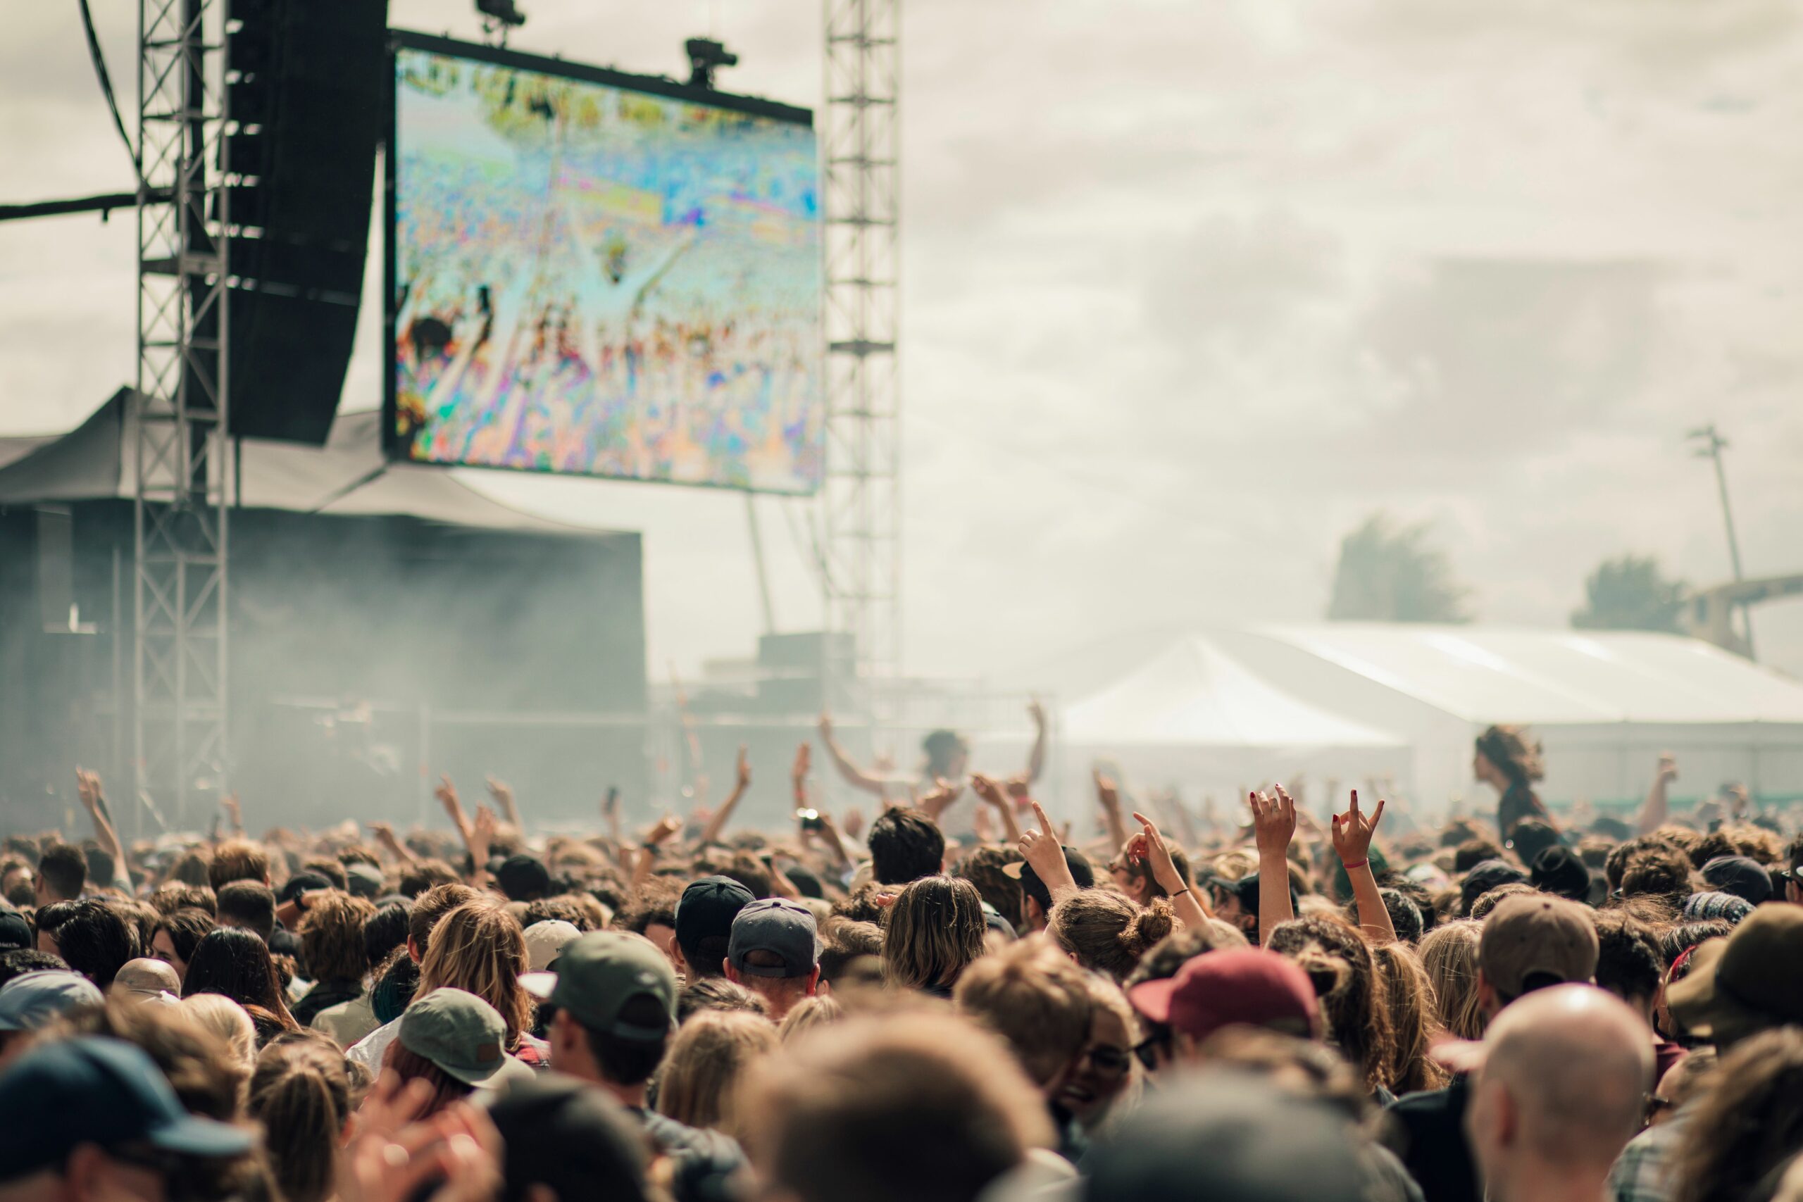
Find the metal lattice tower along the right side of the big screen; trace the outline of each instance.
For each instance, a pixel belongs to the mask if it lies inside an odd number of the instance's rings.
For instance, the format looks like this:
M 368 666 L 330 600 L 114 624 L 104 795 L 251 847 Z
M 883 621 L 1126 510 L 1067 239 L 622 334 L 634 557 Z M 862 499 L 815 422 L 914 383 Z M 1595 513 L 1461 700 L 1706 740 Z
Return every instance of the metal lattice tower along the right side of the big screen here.
M 900 0 L 826 0 L 826 625 L 855 640 L 856 710 L 902 670 Z

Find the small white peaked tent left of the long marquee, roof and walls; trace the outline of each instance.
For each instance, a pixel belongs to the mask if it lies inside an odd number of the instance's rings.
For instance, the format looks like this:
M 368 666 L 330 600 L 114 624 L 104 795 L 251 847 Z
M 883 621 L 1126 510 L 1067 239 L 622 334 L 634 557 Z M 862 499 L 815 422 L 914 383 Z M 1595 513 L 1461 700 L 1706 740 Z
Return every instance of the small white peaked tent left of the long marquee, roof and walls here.
M 1361 780 L 1406 773 L 1405 739 L 1262 679 L 1212 640 L 1183 638 L 1064 712 L 1073 779 L 1094 759 L 1139 786 L 1231 797 L 1307 773 Z

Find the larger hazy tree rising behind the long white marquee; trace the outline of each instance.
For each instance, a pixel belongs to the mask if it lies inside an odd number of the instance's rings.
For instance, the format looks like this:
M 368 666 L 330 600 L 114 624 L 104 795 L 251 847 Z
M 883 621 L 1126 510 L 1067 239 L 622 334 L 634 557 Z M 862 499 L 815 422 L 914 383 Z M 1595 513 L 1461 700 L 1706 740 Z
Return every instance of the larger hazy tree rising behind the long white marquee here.
M 1376 514 L 1340 541 L 1331 622 L 1469 622 L 1466 587 L 1446 553 L 1428 546 L 1428 526 L 1392 524 Z

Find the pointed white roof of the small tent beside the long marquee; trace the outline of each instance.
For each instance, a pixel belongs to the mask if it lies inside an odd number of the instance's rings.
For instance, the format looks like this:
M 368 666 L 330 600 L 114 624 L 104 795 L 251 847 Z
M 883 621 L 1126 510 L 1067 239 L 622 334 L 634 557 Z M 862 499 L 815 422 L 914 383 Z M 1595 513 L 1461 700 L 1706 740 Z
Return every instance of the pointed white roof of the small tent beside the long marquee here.
M 1071 705 L 1084 746 L 1394 748 L 1403 739 L 1338 717 L 1264 681 L 1201 636 L 1183 638 Z

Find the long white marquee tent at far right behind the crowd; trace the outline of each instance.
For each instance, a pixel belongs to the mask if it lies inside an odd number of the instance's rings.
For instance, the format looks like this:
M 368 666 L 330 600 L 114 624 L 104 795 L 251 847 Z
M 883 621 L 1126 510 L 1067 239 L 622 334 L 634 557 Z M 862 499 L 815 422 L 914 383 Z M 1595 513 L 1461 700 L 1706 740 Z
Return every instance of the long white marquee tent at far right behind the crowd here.
M 1219 636 L 1266 681 L 1414 746 L 1415 797 L 1493 798 L 1471 784 L 1471 741 L 1520 723 L 1545 742 L 1547 800 L 1644 795 L 1659 751 L 1673 795 L 1742 780 L 1803 795 L 1803 687 L 1671 634 L 1475 625 L 1323 624 Z

